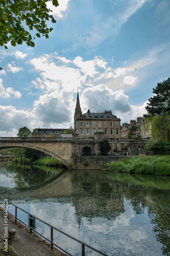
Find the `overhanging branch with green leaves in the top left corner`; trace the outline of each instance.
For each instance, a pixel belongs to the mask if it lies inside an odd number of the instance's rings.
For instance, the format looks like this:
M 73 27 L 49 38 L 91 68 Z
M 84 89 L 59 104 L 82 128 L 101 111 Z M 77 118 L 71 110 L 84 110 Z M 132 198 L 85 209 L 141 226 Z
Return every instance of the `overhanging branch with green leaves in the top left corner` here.
M 7 49 L 6 44 L 11 42 L 12 46 L 21 45 L 23 41 L 28 46 L 34 47 L 34 42 L 30 32 L 26 30 L 36 30 L 36 36 L 41 35 L 48 38 L 48 33 L 53 28 L 48 28 L 46 21 L 51 20 L 56 23 L 51 10 L 46 3 L 52 1 L 54 6 L 58 6 L 57 0 L 1 0 L 0 8 L 0 46 Z

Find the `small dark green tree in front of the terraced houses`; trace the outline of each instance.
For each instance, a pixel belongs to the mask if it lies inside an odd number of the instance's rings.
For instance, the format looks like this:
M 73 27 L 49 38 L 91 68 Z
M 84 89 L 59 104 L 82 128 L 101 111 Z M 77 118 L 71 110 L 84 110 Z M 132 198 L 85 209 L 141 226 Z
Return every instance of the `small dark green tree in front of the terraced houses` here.
M 133 147 L 135 152 L 137 152 L 137 140 L 141 139 L 141 130 L 140 127 L 132 125 L 128 133 L 128 145 Z

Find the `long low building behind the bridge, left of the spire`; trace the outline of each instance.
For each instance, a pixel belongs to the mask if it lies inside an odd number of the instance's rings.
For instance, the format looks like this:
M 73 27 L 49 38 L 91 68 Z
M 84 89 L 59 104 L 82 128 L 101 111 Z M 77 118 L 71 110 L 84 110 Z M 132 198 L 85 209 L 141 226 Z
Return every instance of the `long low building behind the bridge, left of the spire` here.
M 35 138 L 56 138 L 64 133 L 67 129 L 34 129 L 33 137 Z

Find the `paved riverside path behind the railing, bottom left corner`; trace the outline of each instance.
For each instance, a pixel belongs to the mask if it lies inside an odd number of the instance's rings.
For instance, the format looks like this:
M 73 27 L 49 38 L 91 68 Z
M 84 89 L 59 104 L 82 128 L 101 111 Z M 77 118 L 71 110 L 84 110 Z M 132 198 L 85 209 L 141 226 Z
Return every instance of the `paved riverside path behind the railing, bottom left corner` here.
M 38 241 L 38 236 L 28 233 L 25 228 L 13 222 L 13 218 L 8 219 L 8 230 L 16 229 L 15 240 L 11 242 L 10 247 L 18 256 L 66 256 L 56 248 L 51 250 L 47 245 Z M 0 237 L 2 239 L 5 234 L 4 224 L 4 211 L 0 210 Z

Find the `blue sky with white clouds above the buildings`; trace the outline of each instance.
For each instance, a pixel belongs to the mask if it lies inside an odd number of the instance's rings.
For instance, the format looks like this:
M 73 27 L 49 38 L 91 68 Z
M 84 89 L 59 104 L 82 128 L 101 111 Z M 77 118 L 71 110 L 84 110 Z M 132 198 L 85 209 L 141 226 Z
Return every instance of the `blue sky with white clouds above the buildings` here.
M 0 137 L 74 126 L 78 90 L 82 113 L 112 110 L 121 123 L 147 114 L 153 88 L 170 76 L 170 1 L 48 7 L 57 21 L 48 39 L 0 48 Z

